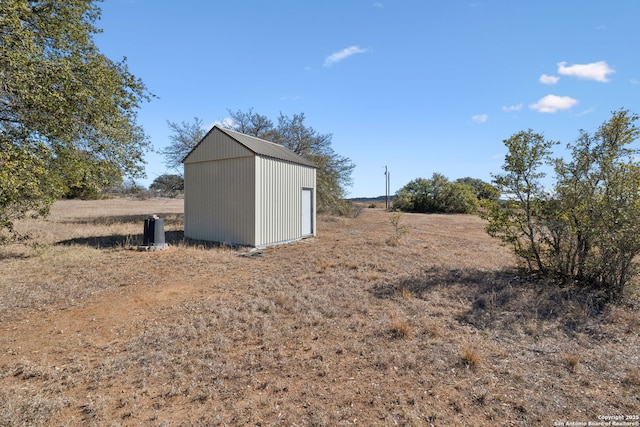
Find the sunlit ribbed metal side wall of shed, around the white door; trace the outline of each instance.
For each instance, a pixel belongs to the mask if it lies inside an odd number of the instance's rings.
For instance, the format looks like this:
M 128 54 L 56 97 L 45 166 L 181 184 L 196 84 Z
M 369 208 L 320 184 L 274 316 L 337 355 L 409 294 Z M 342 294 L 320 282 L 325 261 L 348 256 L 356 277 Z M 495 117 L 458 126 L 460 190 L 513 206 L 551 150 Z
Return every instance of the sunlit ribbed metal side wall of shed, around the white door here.
M 302 237 L 302 188 L 314 190 L 316 170 L 256 156 L 256 246 Z

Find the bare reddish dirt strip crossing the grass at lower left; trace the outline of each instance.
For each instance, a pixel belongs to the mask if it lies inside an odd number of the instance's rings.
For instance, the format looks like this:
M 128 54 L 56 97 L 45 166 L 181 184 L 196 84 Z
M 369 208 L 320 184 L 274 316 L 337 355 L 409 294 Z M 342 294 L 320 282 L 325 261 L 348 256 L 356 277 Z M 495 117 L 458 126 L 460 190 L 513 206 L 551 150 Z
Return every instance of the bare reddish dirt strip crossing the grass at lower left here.
M 92 357 L 96 349 L 126 341 L 139 331 L 136 323 L 150 321 L 164 309 L 196 299 L 224 300 L 229 278 L 198 275 L 178 278 L 167 271 L 159 285 L 133 284 L 110 289 L 82 302 L 81 306 L 46 311 L 31 310 L 26 316 L 5 322 L 0 336 L 0 364 L 22 358 L 56 366 L 71 355 Z M 234 274 L 233 280 L 238 280 Z M 234 298 L 240 290 L 233 292 Z

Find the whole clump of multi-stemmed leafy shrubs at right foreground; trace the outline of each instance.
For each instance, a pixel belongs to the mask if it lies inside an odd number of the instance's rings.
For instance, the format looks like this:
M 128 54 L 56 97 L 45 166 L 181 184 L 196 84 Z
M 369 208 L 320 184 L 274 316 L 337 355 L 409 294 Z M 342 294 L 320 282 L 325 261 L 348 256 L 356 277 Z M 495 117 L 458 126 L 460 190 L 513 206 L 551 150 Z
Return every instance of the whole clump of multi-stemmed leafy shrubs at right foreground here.
M 487 212 L 489 234 L 513 244 L 531 271 L 619 298 L 640 254 L 637 120 L 620 110 L 594 134 L 580 131 L 568 160 L 552 159 L 553 143 L 531 131 L 506 140 L 495 182 L 510 197 Z M 552 193 L 540 183 L 545 164 L 555 167 Z

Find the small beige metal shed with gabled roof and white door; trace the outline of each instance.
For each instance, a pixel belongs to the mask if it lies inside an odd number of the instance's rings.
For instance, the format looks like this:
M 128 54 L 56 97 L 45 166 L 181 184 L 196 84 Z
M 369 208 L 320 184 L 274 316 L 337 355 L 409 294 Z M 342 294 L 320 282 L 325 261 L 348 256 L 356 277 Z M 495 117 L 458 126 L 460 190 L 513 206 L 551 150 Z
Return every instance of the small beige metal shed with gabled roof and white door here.
M 264 247 L 316 235 L 316 166 L 214 126 L 184 163 L 184 235 Z

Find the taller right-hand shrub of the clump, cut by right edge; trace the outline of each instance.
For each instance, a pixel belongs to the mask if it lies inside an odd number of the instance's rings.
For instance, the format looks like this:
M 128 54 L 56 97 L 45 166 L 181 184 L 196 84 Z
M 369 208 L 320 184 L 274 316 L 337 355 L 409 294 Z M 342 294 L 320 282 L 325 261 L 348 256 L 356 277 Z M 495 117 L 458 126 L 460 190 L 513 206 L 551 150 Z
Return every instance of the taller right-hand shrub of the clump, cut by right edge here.
M 638 116 L 614 112 L 595 134 L 580 132 L 572 160 L 557 159 L 553 262 L 563 277 L 623 292 L 640 253 L 640 162 L 631 144 Z M 561 238 L 562 237 L 562 238 Z

